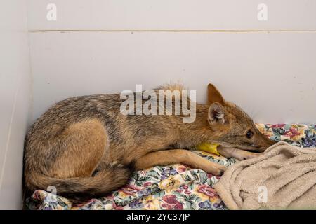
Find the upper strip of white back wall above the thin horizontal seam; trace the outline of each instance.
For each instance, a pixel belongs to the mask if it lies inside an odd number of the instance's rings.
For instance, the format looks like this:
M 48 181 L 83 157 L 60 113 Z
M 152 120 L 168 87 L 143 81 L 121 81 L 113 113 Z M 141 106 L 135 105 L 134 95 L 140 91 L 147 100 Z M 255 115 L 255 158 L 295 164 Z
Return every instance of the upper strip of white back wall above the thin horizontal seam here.
M 313 0 L 28 0 L 29 29 L 314 30 Z M 55 3 L 58 20 L 46 20 Z M 258 4 L 268 20 L 258 21 Z

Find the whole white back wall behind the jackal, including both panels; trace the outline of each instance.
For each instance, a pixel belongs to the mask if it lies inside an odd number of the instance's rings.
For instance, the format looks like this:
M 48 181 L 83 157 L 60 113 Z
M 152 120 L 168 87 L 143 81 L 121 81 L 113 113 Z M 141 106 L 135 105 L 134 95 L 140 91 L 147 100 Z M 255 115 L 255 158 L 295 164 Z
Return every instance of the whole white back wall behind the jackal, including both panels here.
M 182 78 L 198 102 L 212 82 L 256 122 L 316 123 L 315 9 L 309 0 L 29 0 L 34 118 L 65 97 Z

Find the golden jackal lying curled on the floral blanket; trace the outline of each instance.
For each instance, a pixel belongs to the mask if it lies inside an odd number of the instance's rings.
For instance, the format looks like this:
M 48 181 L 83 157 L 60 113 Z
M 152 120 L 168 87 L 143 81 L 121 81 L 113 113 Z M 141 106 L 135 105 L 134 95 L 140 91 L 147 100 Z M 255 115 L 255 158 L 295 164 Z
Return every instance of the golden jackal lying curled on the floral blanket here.
M 167 85 L 158 90 L 181 90 Z M 273 141 L 259 132 L 238 106 L 209 84 L 209 102 L 196 104 L 196 118 L 124 115 L 120 94 L 72 97 L 53 105 L 25 139 L 25 192 L 55 186 L 71 200 L 104 196 L 124 186 L 134 169 L 184 163 L 221 175 L 225 167 L 185 150 L 212 142 L 239 160 L 265 151 Z M 181 99 L 181 104 L 183 100 Z

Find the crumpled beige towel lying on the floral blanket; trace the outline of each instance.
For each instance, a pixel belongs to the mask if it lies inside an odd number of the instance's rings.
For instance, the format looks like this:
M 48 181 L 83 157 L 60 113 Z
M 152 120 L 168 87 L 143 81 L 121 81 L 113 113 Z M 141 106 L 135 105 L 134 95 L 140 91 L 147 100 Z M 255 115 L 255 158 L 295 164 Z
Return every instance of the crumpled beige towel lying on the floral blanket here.
M 228 209 L 316 209 L 316 148 L 280 141 L 232 165 L 215 189 Z

